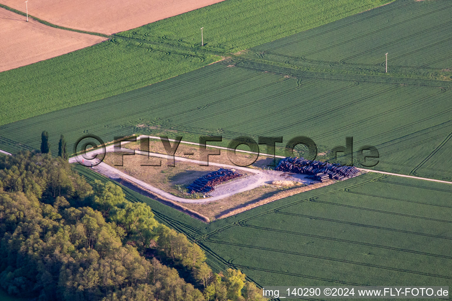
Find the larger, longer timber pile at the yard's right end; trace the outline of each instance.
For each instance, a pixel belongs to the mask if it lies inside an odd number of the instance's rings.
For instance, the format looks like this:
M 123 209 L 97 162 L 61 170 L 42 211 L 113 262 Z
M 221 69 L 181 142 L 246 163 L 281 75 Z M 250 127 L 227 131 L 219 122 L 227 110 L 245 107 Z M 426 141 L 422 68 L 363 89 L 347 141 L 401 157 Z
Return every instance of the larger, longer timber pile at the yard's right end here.
M 311 162 L 303 157 L 285 157 L 279 162 L 276 170 L 310 175 L 310 178 L 320 182 L 329 179 L 344 180 L 358 176 L 359 173 L 359 169 L 354 166 L 338 166 L 321 161 Z

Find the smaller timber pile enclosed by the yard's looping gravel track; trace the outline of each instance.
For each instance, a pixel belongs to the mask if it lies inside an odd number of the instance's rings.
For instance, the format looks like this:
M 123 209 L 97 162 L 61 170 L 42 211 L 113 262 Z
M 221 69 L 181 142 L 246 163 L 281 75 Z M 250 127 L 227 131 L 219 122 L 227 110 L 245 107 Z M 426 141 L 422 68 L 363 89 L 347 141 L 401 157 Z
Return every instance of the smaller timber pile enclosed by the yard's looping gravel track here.
M 206 193 L 213 190 L 213 186 L 219 185 L 223 182 L 243 176 L 242 174 L 231 169 L 220 168 L 217 171 L 209 172 L 196 179 L 192 184 L 187 186 L 189 193 Z

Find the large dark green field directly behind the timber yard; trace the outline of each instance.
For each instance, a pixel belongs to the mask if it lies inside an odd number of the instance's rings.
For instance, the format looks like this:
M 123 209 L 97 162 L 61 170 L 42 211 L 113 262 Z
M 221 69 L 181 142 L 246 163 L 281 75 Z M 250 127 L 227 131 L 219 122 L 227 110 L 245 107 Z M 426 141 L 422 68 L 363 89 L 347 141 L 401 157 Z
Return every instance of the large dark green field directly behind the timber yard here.
M 60 134 L 71 151 L 87 133 L 104 141 L 165 130 L 178 130 L 192 141 L 198 140 L 196 134 L 225 139 L 282 135 L 286 141 L 306 135 L 321 151 L 344 145 L 345 136 L 353 136 L 355 150 L 366 144 L 379 149 L 376 169 L 450 180 L 451 93 L 408 85 L 293 79 L 214 64 L 130 93 L 4 125 L 0 148 L 14 152 L 21 148 L 11 142 L 15 141 L 38 149 L 42 130 L 50 134 L 53 153 Z

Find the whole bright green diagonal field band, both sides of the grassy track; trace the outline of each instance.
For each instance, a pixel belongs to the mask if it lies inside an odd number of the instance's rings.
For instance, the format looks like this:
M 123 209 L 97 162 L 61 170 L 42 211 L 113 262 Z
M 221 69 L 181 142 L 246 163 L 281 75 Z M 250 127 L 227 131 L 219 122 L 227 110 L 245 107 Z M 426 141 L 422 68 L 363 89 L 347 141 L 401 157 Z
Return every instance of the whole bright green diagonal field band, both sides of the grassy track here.
M 118 33 L 107 42 L 0 73 L 0 125 L 145 87 L 217 61 L 217 55 L 389 1 L 226 0 Z

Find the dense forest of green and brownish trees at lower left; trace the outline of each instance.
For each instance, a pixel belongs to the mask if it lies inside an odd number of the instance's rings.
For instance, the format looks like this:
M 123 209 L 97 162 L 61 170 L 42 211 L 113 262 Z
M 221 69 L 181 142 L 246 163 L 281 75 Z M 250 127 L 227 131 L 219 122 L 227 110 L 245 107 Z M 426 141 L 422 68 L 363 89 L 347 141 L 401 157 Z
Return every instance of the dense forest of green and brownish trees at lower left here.
M 0 157 L 0 287 L 62 301 L 261 301 L 240 270 L 213 273 L 203 250 L 62 157 Z M 182 276 L 182 277 L 181 277 Z

